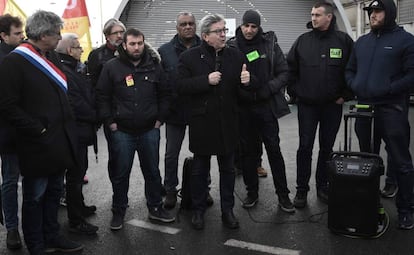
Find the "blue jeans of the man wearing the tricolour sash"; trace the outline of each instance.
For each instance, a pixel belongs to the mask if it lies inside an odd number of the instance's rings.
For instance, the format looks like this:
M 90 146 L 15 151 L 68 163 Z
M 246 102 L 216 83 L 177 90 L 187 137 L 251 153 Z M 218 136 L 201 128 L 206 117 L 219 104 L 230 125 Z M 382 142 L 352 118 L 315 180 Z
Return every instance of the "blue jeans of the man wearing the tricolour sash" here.
M 41 254 L 59 236 L 58 209 L 63 173 L 23 177 L 22 228 L 30 254 Z

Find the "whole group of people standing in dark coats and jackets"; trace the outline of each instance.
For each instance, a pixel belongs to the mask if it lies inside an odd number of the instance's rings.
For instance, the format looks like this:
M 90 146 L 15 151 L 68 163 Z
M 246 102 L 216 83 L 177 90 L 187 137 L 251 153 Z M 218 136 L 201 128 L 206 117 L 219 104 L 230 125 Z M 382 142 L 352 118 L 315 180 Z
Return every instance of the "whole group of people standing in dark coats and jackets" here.
M 179 184 L 178 158 L 189 127 L 191 224 L 205 227 L 211 157 L 220 173 L 223 225 L 239 228 L 233 213 L 235 161 L 246 185 L 242 206 L 259 201 L 258 166 L 262 143 L 272 172 L 278 206 L 287 213 L 304 208 L 310 190 L 312 149 L 319 126 L 316 166 L 317 197 L 329 200 L 326 161 L 351 99 L 375 106 L 376 144 L 388 154 L 387 196 L 397 194 L 400 229 L 412 229 L 414 169 L 409 151 L 408 91 L 414 84 L 414 36 L 395 23 L 392 0 L 375 0 L 364 8 L 371 32 L 355 43 L 336 30 L 334 7 L 317 2 L 309 32 L 298 37 L 287 57 L 273 31 L 261 27 L 261 16 L 247 10 L 236 35 L 227 40 L 225 19 L 209 14 L 199 21 L 190 12 L 177 16 L 177 34 L 158 50 L 137 28 L 108 20 L 106 43 L 80 61 L 76 34 L 63 34 L 56 14 L 39 10 L 23 23 L 0 17 L 0 152 L 2 207 L 7 247 L 22 247 L 17 182 L 22 178 L 22 229 L 30 254 L 74 252 L 82 244 L 59 230 L 58 208 L 66 177 L 69 231 L 96 234 L 88 223 L 94 205 L 85 205 L 83 178 L 88 146 L 96 144 L 102 126 L 112 185 L 113 231 L 122 229 L 135 153 L 145 180 L 148 217 L 170 223 L 175 217 Z M 278 118 L 289 114 L 284 91 L 297 98 L 299 148 L 297 187 L 289 197 L 280 148 Z M 166 123 L 164 181 L 159 170 L 160 127 Z M 362 151 L 370 128 L 356 123 Z M 376 146 L 375 152 L 379 152 Z M 390 187 L 392 190 L 390 191 Z M 398 189 L 396 188 L 398 187 Z M 398 190 L 398 192 L 397 192 Z M 163 193 L 165 198 L 163 199 Z

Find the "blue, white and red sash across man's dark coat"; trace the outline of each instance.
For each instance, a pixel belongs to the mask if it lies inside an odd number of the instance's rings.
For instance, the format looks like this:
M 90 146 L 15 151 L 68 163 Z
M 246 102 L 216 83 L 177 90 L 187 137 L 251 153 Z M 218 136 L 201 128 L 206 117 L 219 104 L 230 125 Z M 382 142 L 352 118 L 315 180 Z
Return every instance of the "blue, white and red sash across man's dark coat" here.
M 23 56 L 34 66 L 39 68 L 40 71 L 52 79 L 65 93 L 68 91 L 66 75 L 52 62 L 40 55 L 31 44 L 22 43 L 14 49 L 13 52 Z

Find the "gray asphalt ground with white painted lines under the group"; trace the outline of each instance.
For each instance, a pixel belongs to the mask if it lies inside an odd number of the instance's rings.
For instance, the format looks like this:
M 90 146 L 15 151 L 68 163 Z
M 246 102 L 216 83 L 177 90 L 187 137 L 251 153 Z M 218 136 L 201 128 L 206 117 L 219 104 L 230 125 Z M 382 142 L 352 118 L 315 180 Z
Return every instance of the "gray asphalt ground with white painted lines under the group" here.
M 347 107 L 347 106 L 345 106 Z M 298 147 L 297 109 L 291 106 L 292 113 L 279 120 L 282 153 L 286 162 L 287 179 L 290 197 L 295 195 L 296 180 L 296 150 Z M 414 107 L 410 107 L 410 123 L 414 126 Z M 164 171 L 165 132 L 161 132 L 160 170 Z M 355 137 L 355 136 L 354 136 Z M 414 137 L 414 128 L 411 129 Z M 316 198 L 314 173 L 310 181 L 311 190 L 308 194 L 308 205 L 287 214 L 278 208 L 277 197 L 269 171 L 267 178 L 260 178 L 259 203 L 256 207 L 246 210 L 241 206 L 241 200 L 246 192 L 241 176 L 236 178 L 234 212 L 240 221 L 240 229 L 229 230 L 221 223 L 219 204 L 219 180 L 217 162 L 212 158 L 211 195 L 214 205 L 205 215 L 205 229 L 193 230 L 191 213 L 178 210 L 179 203 L 172 213 L 177 215 L 172 224 L 157 224 L 148 219 L 145 205 L 144 181 L 139 168 L 138 158 L 135 158 L 130 179 L 129 208 L 125 216 L 122 230 L 113 232 L 109 228 L 111 220 L 112 190 L 107 174 L 107 150 L 102 130 L 98 132 L 99 154 L 98 162 L 92 148 L 89 154 L 89 184 L 84 185 L 84 195 L 87 204 L 94 204 L 98 210 L 96 215 L 88 219 L 99 226 L 97 235 L 84 236 L 68 232 L 66 209 L 61 208 L 59 218 L 61 231 L 69 238 L 82 243 L 85 248 L 74 254 L 414 254 L 412 242 L 414 230 L 397 229 L 397 214 L 394 199 L 381 199 L 390 218 L 388 229 L 378 238 L 352 238 L 339 235 L 327 227 L 328 206 Z M 354 139 L 355 146 L 357 145 Z M 343 146 L 343 127 L 338 133 L 334 150 Z M 414 142 L 411 139 L 411 154 L 414 155 Z M 357 148 L 357 146 L 355 147 Z M 318 143 L 315 142 L 314 160 Z M 184 158 L 190 156 L 188 140 L 184 141 L 179 160 L 179 176 Z M 382 156 L 385 156 L 383 151 Z M 384 157 L 385 159 L 385 157 Z M 263 166 L 269 169 L 266 156 Z M 314 169 L 313 169 L 314 172 Z M 181 178 L 180 178 L 181 179 Z M 381 187 L 384 177 L 381 178 Z M 347 192 L 347 191 L 344 191 Z M 21 194 L 19 189 L 19 194 Z M 21 200 L 21 196 L 20 196 Z M 0 254 L 28 254 L 25 248 L 9 251 L 6 248 L 6 230 L 0 228 Z M 56 253 L 59 254 L 59 253 Z

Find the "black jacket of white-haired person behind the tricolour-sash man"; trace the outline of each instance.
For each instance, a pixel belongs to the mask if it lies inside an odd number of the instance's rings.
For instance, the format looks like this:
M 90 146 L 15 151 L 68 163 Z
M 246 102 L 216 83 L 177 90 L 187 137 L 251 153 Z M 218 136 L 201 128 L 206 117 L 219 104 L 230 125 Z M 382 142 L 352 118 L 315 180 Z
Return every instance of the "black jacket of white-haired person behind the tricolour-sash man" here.
M 80 144 L 92 145 L 96 142 L 95 93 L 86 75 L 77 72 L 76 59 L 66 54 L 59 54 L 62 70 L 68 80 L 68 96 L 76 118 L 76 133 Z

